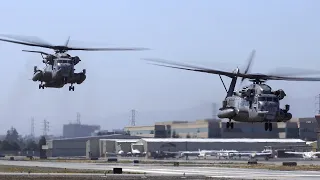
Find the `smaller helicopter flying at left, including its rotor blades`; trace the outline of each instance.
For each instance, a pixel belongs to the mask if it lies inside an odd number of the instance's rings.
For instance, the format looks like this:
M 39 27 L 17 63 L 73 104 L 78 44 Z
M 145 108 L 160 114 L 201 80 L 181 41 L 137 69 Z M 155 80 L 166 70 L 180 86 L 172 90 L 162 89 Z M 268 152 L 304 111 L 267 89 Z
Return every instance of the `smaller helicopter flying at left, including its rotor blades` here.
M 24 52 L 39 53 L 42 56 L 42 62 L 45 64 L 43 70 L 34 66 L 34 72 L 32 81 L 40 81 L 39 89 L 46 88 L 62 88 L 66 84 L 70 84 L 69 91 L 74 91 L 73 84 L 82 84 L 86 79 L 86 69 L 82 72 L 75 72 L 75 65 L 77 65 L 81 59 L 78 56 L 71 56 L 67 53 L 70 50 L 80 51 L 136 51 L 147 50 L 146 48 L 80 48 L 80 47 L 68 47 L 70 36 L 66 43 L 62 46 L 51 45 L 44 42 L 37 37 L 32 36 L 16 36 L 16 35 L 3 35 L 14 40 L 0 38 L 0 41 L 9 43 L 22 44 L 27 46 L 36 46 L 42 48 L 53 49 L 54 54 L 46 53 L 43 51 L 31 51 L 22 50 Z

